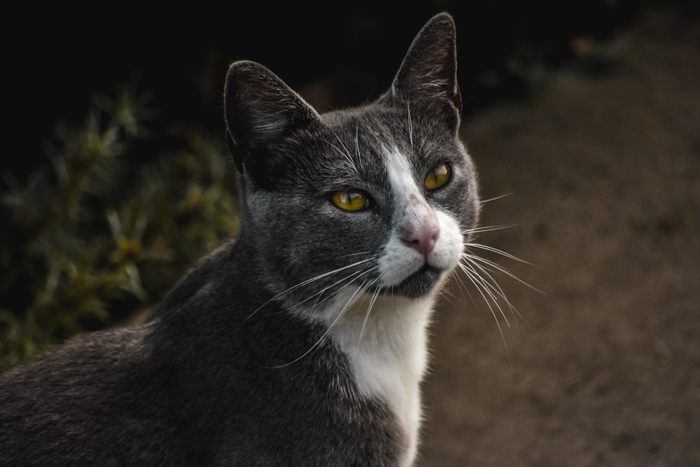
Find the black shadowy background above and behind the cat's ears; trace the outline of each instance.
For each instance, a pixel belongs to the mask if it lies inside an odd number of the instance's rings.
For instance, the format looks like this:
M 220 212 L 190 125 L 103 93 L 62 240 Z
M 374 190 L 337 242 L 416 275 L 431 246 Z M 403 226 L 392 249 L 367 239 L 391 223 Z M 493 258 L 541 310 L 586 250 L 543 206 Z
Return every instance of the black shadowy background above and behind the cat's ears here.
M 46 162 L 42 145 L 59 120 L 83 122 L 96 92 L 120 85 L 148 92 L 157 148 L 188 132 L 223 134 L 221 94 L 228 64 L 265 64 L 323 111 L 372 99 L 422 25 L 454 15 L 465 116 L 521 97 L 574 58 L 575 38 L 605 39 L 646 1 L 417 1 L 274 6 L 61 6 L 7 15 L 4 169 L 26 179 Z M 30 7 L 31 8 L 31 7 Z M 602 66 L 603 71 L 605 65 Z M 314 87 L 315 86 L 315 87 Z M 304 91 L 307 91 L 305 93 Z M 8 105 L 7 105 L 8 104 Z M 141 156 L 139 156 L 141 157 Z

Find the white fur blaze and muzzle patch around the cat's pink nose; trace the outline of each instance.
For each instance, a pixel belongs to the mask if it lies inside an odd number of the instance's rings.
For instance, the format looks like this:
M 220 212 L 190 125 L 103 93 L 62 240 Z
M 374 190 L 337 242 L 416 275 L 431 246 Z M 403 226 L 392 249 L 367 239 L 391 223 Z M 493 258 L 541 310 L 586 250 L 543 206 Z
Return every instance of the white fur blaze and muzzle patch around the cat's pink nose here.
M 385 148 L 386 172 L 394 196 L 393 229 L 379 258 L 379 277 L 385 287 L 395 286 L 426 265 L 447 272 L 456 267 L 463 252 L 459 224 L 433 209 L 417 186 L 409 162 L 398 148 Z M 437 224 L 435 246 L 423 256 L 403 240 L 406 232 Z

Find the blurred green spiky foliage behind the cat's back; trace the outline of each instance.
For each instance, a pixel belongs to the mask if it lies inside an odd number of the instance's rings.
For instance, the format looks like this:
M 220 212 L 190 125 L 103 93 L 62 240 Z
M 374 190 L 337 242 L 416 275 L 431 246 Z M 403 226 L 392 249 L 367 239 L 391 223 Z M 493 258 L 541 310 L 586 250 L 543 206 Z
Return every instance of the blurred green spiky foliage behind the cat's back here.
M 52 170 L 26 183 L 3 174 L 0 371 L 153 305 L 239 232 L 223 139 L 190 133 L 142 158 L 139 144 L 158 138 L 148 97 L 124 88 L 92 102 L 84 125 L 57 126 Z

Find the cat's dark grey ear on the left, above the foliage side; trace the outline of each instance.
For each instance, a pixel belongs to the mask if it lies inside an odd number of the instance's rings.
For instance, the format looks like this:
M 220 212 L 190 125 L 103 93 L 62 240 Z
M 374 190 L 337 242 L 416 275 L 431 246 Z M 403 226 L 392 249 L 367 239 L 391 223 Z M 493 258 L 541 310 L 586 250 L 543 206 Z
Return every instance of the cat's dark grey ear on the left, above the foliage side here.
M 248 156 L 265 150 L 300 125 L 318 122 L 318 113 L 272 71 L 248 60 L 228 69 L 224 117 L 229 150 L 239 172 Z

